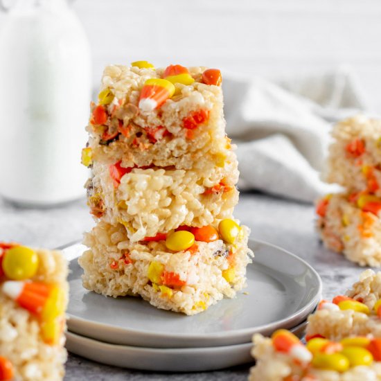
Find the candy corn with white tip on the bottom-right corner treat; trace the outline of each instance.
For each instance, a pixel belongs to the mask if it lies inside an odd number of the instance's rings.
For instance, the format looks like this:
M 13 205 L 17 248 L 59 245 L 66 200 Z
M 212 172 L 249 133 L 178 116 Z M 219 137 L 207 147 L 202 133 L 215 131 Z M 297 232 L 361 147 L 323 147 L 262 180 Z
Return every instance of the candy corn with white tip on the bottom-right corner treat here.
M 302 364 L 308 364 L 312 360 L 310 351 L 288 330 L 276 330 L 272 335 L 272 345 L 276 351 L 288 353 Z

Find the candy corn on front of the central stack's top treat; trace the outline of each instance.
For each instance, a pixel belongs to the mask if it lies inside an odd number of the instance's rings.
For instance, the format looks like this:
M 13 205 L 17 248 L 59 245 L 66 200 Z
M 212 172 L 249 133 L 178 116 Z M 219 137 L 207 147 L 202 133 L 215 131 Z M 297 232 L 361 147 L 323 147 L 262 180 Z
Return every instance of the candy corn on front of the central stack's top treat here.
M 175 94 L 175 86 L 168 80 L 151 78 L 146 80 L 141 89 L 139 109 L 142 112 L 151 112 Z

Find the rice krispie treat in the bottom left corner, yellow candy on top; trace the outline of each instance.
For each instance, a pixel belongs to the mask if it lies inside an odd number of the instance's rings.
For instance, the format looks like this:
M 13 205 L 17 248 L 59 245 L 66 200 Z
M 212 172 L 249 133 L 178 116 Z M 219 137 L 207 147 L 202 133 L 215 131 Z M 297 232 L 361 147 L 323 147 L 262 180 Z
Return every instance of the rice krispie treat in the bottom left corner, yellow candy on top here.
M 67 263 L 58 251 L 0 242 L 0 380 L 62 380 Z

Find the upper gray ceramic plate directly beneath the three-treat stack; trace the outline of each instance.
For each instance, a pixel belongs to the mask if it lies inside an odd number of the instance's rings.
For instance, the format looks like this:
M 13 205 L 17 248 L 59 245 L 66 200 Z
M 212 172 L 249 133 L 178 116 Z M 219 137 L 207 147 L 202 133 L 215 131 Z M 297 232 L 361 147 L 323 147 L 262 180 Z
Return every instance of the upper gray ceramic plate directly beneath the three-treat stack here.
M 283 249 L 257 240 L 249 246 L 255 258 L 247 267 L 244 292 L 191 317 L 158 310 L 139 298 L 89 292 L 82 287 L 77 260 L 71 260 L 69 330 L 111 344 L 195 348 L 247 343 L 253 333 L 269 335 L 300 324 L 321 297 L 319 275 Z M 65 251 L 75 256 L 82 248 Z

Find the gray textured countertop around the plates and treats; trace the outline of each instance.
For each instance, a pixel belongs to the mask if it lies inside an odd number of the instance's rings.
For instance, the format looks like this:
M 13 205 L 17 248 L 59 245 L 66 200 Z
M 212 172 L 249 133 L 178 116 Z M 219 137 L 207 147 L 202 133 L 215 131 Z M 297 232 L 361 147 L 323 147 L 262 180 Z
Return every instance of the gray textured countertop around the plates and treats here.
M 362 269 L 341 255 L 322 247 L 314 231 L 312 205 L 242 193 L 236 217 L 251 228 L 251 236 L 292 251 L 319 272 L 324 297 L 344 291 L 357 280 Z M 51 209 L 22 209 L 0 200 L 0 240 L 54 248 L 81 238 L 93 221 L 85 200 Z M 206 373 L 144 373 L 96 364 L 69 355 L 65 380 L 246 380 L 249 366 Z

